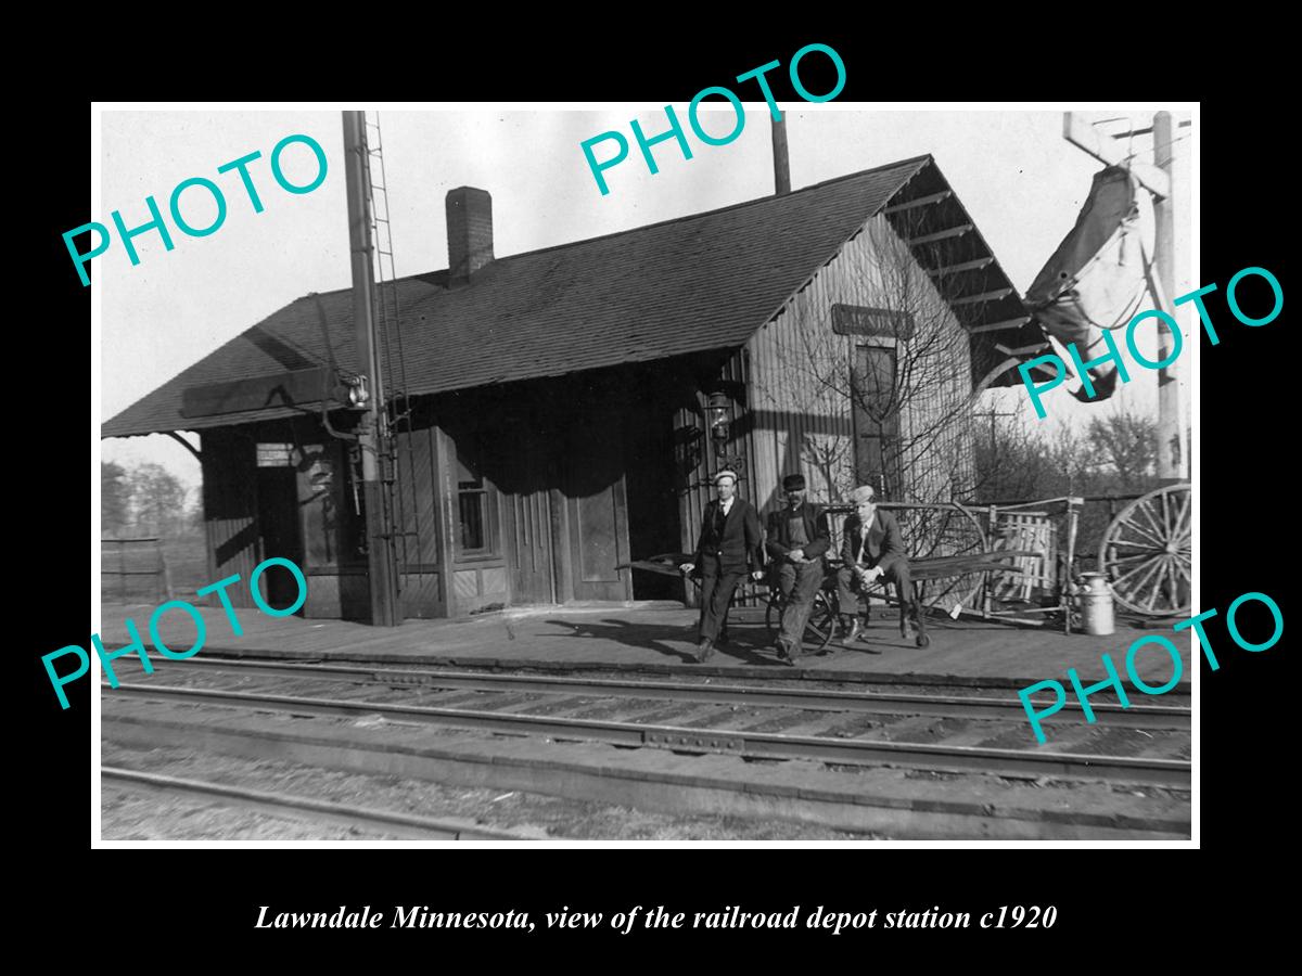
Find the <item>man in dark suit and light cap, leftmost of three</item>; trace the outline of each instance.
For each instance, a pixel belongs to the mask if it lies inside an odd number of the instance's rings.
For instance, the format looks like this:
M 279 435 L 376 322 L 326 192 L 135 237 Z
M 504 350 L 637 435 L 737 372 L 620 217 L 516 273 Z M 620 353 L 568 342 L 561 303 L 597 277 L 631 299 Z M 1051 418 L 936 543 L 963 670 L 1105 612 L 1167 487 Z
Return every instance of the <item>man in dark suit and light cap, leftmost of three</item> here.
M 720 471 L 715 475 L 715 491 L 719 497 L 706 505 L 700 517 L 697 553 L 691 562 L 678 567 L 689 574 L 700 567 L 700 643 L 697 645 L 697 661 L 700 664 L 715 652 L 719 627 L 728 616 L 728 604 L 745 578 L 747 565 L 755 579 L 764 575 L 759 569 L 764 540 L 759 513 L 749 501 L 737 497 L 737 475 Z

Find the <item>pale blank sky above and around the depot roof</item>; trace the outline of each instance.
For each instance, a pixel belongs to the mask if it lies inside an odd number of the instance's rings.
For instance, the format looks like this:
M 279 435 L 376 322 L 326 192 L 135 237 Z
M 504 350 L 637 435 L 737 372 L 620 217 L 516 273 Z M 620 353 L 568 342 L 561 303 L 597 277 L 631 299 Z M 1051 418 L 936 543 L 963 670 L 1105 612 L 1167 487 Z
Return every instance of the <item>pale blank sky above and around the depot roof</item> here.
M 672 142 L 656 146 L 660 172 L 655 176 L 641 160 L 629 120 L 637 117 L 652 135 L 665 128 L 663 108 L 436 108 L 395 107 L 379 113 L 400 276 L 447 267 L 444 195 L 457 186 L 492 194 L 499 258 L 773 191 L 763 103 L 746 105 L 745 129 L 728 146 L 704 146 L 690 129 L 691 160 L 684 160 Z M 676 104 L 676 109 L 685 120 L 686 105 Z M 865 111 L 836 103 L 784 104 L 783 109 L 793 189 L 930 152 L 1021 293 L 1070 230 L 1101 165 L 1062 138 L 1061 111 L 919 112 L 876 105 Z M 1129 116 L 1147 125 L 1151 109 L 1092 115 Z M 1182 117 L 1187 113 L 1177 112 Z M 730 109 L 702 113 L 702 118 L 710 133 L 723 134 L 733 125 Z M 94 259 L 103 410 L 96 423 L 293 299 L 352 284 L 337 111 L 104 111 L 100 125 L 100 194 L 89 220 L 111 225 L 111 212 L 120 210 L 128 228 L 141 225 L 148 220 L 147 195 L 167 213 L 172 189 L 190 177 L 216 182 L 228 213 L 224 225 L 207 237 L 178 233 L 168 216 L 174 250 L 167 251 L 154 232 L 142 234 L 134 239 L 139 265 L 132 267 L 116 237 L 108 252 Z M 605 170 L 611 193 L 603 197 L 579 143 L 607 130 L 624 133 L 633 144 L 622 164 Z M 1177 129 L 1177 252 L 1190 239 L 1190 131 Z M 312 137 L 327 154 L 326 181 L 309 194 L 281 190 L 270 172 L 272 147 L 290 134 Z M 1137 137 L 1133 148 L 1147 150 L 1150 138 Z M 236 173 L 216 172 L 255 150 L 262 159 L 249 172 L 266 207 L 262 213 L 254 213 Z M 600 159 L 609 151 L 609 144 L 596 150 Z M 293 182 L 307 182 L 315 172 L 311 152 L 301 144 L 286 150 L 283 160 Z M 182 212 L 197 226 L 211 223 L 215 213 L 204 198 L 202 190 L 187 190 L 182 198 Z M 76 275 L 70 262 L 69 273 Z M 1176 294 L 1194 286 L 1194 268 L 1177 268 Z M 1189 337 L 1193 323 L 1181 321 Z M 1181 359 L 1186 383 L 1189 350 L 1197 345 L 1186 344 Z M 1147 355 L 1156 358 L 1151 349 Z M 1133 375 L 1111 405 L 1077 403 L 1066 393 L 1077 384 L 1069 381 L 1046 397 L 1049 419 L 1043 423 L 1087 423 L 1118 407 L 1155 413 L 1156 373 L 1138 370 Z M 1000 410 L 1013 409 L 1025 402 L 1026 392 L 1018 386 L 992 398 Z M 103 457 L 121 463 L 159 461 L 191 487 L 199 480 L 198 463 L 161 436 L 103 441 Z

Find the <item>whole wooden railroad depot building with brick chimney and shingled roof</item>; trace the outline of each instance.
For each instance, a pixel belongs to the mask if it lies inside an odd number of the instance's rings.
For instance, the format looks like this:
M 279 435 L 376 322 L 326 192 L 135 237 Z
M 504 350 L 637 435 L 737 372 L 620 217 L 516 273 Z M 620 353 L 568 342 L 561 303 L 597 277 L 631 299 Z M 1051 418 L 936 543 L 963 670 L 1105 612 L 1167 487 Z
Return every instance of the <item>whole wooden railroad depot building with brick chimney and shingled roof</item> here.
M 857 481 L 963 497 L 956 405 L 1005 350 L 1044 345 L 930 156 L 506 258 L 491 206 L 448 194 L 450 268 L 397 281 L 380 342 L 408 411 L 388 483 L 401 618 L 690 600 L 620 566 L 690 552 L 723 466 L 762 511 L 796 471 L 824 504 Z M 883 307 L 887 275 L 918 308 Z M 303 297 L 103 426 L 197 432 L 211 578 L 293 560 L 309 618 L 370 613 L 357 411 L 328 398 L 361 371 L 352 315 L 346 290 Z M 837 393 L 853 370 L 889 398 L 910 329 L 935 349 L 930 396 L 870 416 Z M 892 457 L 947 414 L 926 452 Z

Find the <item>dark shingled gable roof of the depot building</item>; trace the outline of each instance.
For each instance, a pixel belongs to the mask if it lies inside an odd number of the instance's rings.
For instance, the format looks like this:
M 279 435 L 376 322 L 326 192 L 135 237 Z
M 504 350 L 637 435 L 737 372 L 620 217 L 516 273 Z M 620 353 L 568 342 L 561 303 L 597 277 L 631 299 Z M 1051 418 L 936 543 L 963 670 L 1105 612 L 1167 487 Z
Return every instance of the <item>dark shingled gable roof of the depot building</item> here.
M 883 213 L 973 333 L 974 383 L 1042 344 L 1012 282 L 931 156 L 789 194 L 496 258 L 392 285 L 408 396 L 736 347 Z M 384 285 L 388 290 L 391 285 Z M 381 297 L 387 307 L 392 297 Z M 102 427 L 120 437 L 301 414 L 318 375 L 365 372 L 352 291 L 309 294 L 251 325 Z M 1012 373 L 1016 380 L 1016 372 Z

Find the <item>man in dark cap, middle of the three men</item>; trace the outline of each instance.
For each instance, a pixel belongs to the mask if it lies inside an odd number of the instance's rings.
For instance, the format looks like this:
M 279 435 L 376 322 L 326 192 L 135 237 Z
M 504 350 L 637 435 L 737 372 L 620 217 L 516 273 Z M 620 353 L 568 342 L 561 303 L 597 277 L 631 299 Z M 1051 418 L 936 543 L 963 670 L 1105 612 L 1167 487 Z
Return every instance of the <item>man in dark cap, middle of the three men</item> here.
M 814 595 L 823 584 L 823 554 L 831 548 L 832 536 L 827 513 L 805 500 L 805 475 L 786 475 L 783 492 L 786 506 L 769 514 L 764 548 L 777 562 L 777 588 L 786 597 L 777 657 L 794 665 L 801 656 Z

